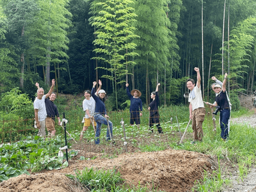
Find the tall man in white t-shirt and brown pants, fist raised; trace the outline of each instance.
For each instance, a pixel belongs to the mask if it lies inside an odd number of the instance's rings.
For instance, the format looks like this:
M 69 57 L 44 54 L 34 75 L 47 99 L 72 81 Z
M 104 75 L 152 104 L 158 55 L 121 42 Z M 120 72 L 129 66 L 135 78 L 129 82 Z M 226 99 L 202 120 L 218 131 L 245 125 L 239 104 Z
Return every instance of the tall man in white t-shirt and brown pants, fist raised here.
M 201 92 L 201 75 L 199 68 L 194 69 L 197 72 L 197 84 L 194 79 L 187 79 L 187 89 L 189 93 L 189 118 L 192 120 L 193 141 L 203 141 L 203 121 L 205 120 L 205 105 Z

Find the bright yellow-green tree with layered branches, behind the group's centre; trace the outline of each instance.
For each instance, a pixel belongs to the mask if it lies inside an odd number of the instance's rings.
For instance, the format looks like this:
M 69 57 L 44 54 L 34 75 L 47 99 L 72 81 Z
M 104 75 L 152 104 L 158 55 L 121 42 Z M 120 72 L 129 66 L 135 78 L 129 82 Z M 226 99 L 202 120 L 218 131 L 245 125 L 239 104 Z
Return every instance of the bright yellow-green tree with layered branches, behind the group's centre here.
M 106 0 L 93 1 L 91 11 L 94 14 L 90 18 L 91 25 L 96 27 L 96 37 L 93 41 L 98 47 L 94 49 L 97 53 L 97 59 L 108 63 L 109 67 L 98 67 L 111 72 L 112 75 L 103 75 L 107 79 L 111 79 L 115 83 L 115 97 L 117 106 L 117 84 L 125 82 L 123 80 L 127 70 L 126 65 L 131 65 L 133 61 L 126 61 L 126 57 L 135 57 L 137 53 L 136 44 L 131 42 L 135 37 L 134 9 L 130 7 L 133 3 L 131 0 Z M 126 50 L 127 53 L 126 53 Z

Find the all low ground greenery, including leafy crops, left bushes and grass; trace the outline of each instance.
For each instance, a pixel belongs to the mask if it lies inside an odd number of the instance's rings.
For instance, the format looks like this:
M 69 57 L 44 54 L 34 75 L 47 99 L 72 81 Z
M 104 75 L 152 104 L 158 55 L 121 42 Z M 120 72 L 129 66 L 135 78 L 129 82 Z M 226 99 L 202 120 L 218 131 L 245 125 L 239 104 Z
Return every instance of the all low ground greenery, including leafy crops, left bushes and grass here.
M 15 91 L 10 92 L 8 97 L 25 98 L 19 97 Z M 1 106 L 3 105 L 5 99 L 8 97 L 3 97 L 0 101 Z M 83 97 L 77 97 L 79 99 L 70 99 L 67 97 L 59 97 L 55 101 L 59 111 L 65 112 L 66 118 L 69 120 L 67 124 L 67 129 L 71 133 L 72 137 L 76 140 L 79 139 L 80 131 L 82 128 L 81 119 L 84 115 L 83 110 L 81 109 L 81 103 Z M 14 98 L 16 99 L 16 98 Z M 25 101 L 27 101 L 25 99 Z M 31 103 L 30 103 L 31 105 Z M 9 106 L 12 106 L 9 104 Z M 11 108 L 11 107 L 9 107 Z M 145 108 L 145 107 L 144 107 Z M 3 109 L 3 108 L 2 108 Z M 28 108 L 29 109 L 29 108 Z M 209 111 L 209 109 L 207 108 Z M 41 171 L 42 169 L 59 169 L 60 167 L 65 167 L 63 165 L 63 158 L 57 157 L 57 152 L 59 147 L 63 147 L 63 138 L 57 136 L 55 139 L 43 141 L 43 139 L 35 136 L 27 135 L 36 135 L 37 129 L 29 128 L 33 123 L 33 119 L 29 124 L 21 123 L 28 122 L 23 121 L 23 117 L 19 115 L 15 116 L 15 111 L 9 111 L 9 113 L 3 113 L 1 117 L 5 119 L 5 123 L 1 123 L 1 139 L 4 143 L 12 141 L 9 145 L 1 145 L 0 150 L 0 179 L 1 181 L 8 179 L 9 177 L 15 177 L 22 173 L 28 173 L 28 171 Z M 232 125 L 229 139 L 227 142 L 221 141 L 220 129 L 217 125 L 217 133 L 212 131 L 212 119 L 211 115 L 205 116 L 205 121 L 203 123 L 204 130 L 204 140 L 203 143 L 197 143 L 196 145 L 191 145 L 190 140 L 187 139 L 183 141 L 182 145 L 177 145 L 180 140 L 179 129 L 177 126 L 177 119 L 179 121 L 179 126 L 181 133 L 185 131 L 187 122 L 189 121 L 189 109 L 185 105 L 171 105 L 169 107 L 160 107 L 159 113 L 161 115 L 161 127 L 163 128 L 165 137 L 171 137 L 165 142 L 161 140 L 161 137 L 158 133 L 153 133 L 150 135 L 148 123 L 147 109 L 144 109 L 143 118 L 141 119 L 141 127 L 138 130 L 135 126 L 129 125 L 129 109 L 124 109 L 122 111 L 111 111 L 109 116 L 113 122 L 113 133 L 115 137 L 121 138 L 121 141 L 124 141 L 123 138 L 123 129 L 121 127 L 120 121 L 121 118 L 125 121 L 125 131 L 127 133 L 127 141 L 133 147 L 137 147 L 140 151 L 162 151 L 168 148 L 172 149 L 184 149 L 187 151 L 197 151 L 199 153 L 205 153 L 207 155 L 213 155 L 219 159 L 219 161 L 230 161 L 234 167 L 237 167 L 239 171 L 239 177 L 241 180 L 245 178 L 250 167 L 255 165 L 255 147 L 256 147 L 256 130 L 247 125 Z M 253 111 L 248 111 L 241 107 L 239 111 L 232 111 L 232 117 L 241 117 L 242 115 L 253 114 Z M 14 121 L 12 117 L 20 118 L 21 121 Z M 219 115 L 217 115 L 216 122 L 219 122 Z M 8 119 L 9 118 L 9 119 Z M 172 119 L 171 119 L 172 118 Z M 218 123 L 217 123 L 218 124 Z M 25 131 L 21 131 L 27 129 Z M 10 134 L 10 130 L 11 134 Z M 101 137 L 105 136 L 105 131 L 101 132 Z M 189 127 L 187 135 L 191 134 L 192 130 Z M 57 127 L 57 135 L 63 135 L 63 129 Z M 87 131 L 87 134 L 84 135 L 85 139 L 93 142 L 94 133 L 93 131 Z M 154 142 L 145 141 L 147 137 L 154 137 Z M 10 140 L 11 139 L 11 140 Z M 17 141 L 21 140 L 21 141 Z M 103 140 L 103 138 L 102 138 Z M 13 143 L 13 141 L 17 141 Z M 102 143 L 106 145 L 106 143 Z M 70 146 L 70 144 L 69 144 Z M 121 153 L 121 150 L 117 150 L 115 153 L 107 158 L 115 158 Z M 77 151 L 70 151 L 69 157 L 76 155 Z M 64 155 L 65 157 L 65 155 Z M 87 161 L 84 157 L 80 157 L 81 160 Z M 93 157 L 91 159 L 94 159 Z M 219 169 L 213 172 L 212 175 L 205 173 L 205 177 L 202 181 L 195 183 L 194 191 L 218 191 L 221 190 L 223 185 L 229 185 L 229 179 L 224 179 L 222 177 L 225 169 L 221 167 L 219 163 Z M 115 170 L 113 170 L 115 171 Z M 83 171 L 77 171 L 76 175 L 77 180 L 83 180 L 85 175 L 86 182 L 83 185 L 90 186 L 91 189 L 95 191 L 102 191 L 104 185 L 110 185 L 106 182 L 111 182 L 110 189 L 112 191 L 150 191 L 147 187 L 141 186 L 128 186 L 124 181 L 119 177 L 119 173 L 115 174 L 115 177 L 111 178 L 114 172 L 104 172 L 100 170 L 86 169 Z M 91 175 L 90 177 L 88 176 Z M 109 175 L 113 181 L 105 181 L 101 175 Z M 118 176 L 118 177 L 116 177 Z M 101 180 L 101 181 L 99 181 Z M 103 181 L 104 180 L 104 181 Z M 83 181 L 85 182 L 85 181 Z M 94 182 L 94 183 L 93 183 Z M 94 186 L 94 187 L 93 187 Z M 101 187 L 100 187 L 101 186 Z M 154 189 L 157 191 L 157 187 Z

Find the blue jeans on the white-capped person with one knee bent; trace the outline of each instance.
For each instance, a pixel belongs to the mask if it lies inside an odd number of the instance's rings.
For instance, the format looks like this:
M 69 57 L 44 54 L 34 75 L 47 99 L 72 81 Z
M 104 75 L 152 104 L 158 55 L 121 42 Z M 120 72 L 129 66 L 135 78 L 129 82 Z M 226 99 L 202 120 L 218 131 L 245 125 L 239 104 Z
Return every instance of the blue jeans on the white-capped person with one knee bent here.
M 99 136 L 101 135 L 101 124 L 107 125 L 107 119 L 105 119 L 105 117 L 103 117 L 99 113 L 95 114 L 93 117 L 97 123 L 95 133 L 95 144 L 99 144 Z M 113 137 L 113 123 L 111 121 L 109 121 L 109 129 L 111 131 L 111 136 Z M 107 129 L 107 140 L 110 140 L 109 129 Z

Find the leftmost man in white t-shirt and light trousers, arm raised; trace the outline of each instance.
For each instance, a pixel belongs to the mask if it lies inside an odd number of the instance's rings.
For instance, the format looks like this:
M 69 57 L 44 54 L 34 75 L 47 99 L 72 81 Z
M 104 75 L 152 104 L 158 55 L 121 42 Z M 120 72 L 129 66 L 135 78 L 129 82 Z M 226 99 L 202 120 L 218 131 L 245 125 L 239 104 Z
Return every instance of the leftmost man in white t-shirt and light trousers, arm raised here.
M 43 88 L 37 89 L 37 98 L 34 101 L 34 110 L 35 110 L 35 123 L 40 137 L 45 137 L 45 119 L 47 117 L 46 108 L 45 108 L 45 98 L 49 97 L 53 92 L 53 87 L 55 85 L 55 80 L 51 81 L 51 89 L 46 95 L 44 94 Z

